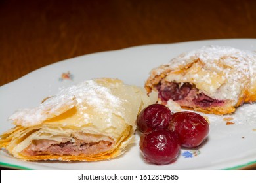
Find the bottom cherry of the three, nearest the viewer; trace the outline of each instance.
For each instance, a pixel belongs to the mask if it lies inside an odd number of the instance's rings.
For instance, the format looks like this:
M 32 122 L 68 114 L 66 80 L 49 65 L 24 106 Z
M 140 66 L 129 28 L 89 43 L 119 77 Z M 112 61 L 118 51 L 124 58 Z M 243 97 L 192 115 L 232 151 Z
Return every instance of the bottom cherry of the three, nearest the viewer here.
M 169 129 L 150 131 L 140 137 L 140 152 L 148 163 L 156 165 L 173 163 L 180 149 L 177 135 Z

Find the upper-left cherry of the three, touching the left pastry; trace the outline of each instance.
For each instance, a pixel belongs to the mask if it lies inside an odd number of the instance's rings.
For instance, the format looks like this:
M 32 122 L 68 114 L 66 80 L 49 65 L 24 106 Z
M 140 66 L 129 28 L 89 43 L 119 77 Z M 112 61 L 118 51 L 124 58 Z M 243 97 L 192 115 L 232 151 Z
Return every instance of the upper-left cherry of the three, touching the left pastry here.
M 167 129 L 171 116 L 171 110 L 165 105 L 149 105 L 137 116 L 137 129 L 142 133 L 155 129 Z

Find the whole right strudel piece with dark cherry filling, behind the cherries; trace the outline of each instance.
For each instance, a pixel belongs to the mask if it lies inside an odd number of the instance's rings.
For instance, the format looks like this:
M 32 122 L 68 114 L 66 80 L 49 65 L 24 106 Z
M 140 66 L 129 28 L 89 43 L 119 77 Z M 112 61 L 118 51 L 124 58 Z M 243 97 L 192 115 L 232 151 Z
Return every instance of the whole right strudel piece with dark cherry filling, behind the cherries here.
M 256 101 L 256 53 L 227 46 L 203 46 L 152 69 L 145 88 L 158 102 L 230 114 Z

